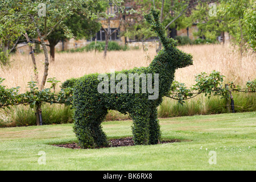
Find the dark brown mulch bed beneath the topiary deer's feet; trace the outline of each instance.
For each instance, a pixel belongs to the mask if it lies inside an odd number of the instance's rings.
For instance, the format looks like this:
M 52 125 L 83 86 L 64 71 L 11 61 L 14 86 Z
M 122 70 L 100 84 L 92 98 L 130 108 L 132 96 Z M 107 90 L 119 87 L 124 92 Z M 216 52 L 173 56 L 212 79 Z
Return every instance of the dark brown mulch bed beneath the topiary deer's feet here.
M 181 140 L 179 140 L 179 139 L 164 140 L 164 141 L 162 141 L 160 143 L 174 143 L 174 142 L 181 142 Z M 110 145 L 108 147 L 134 146 L 134 142 L 133 142 L 133 138 L 132 137 L 121 138 L 121 139 L 111 139 L 111 140 L 109 140 L 109 143 L 110 143 Z M 79 148 L 81 148 L 77 143 L 53 144 L 53 146 L 72 148 L 72 149 L 79 149 Z M 104 148 L 106 148 L 106 147 L 104 147 Z

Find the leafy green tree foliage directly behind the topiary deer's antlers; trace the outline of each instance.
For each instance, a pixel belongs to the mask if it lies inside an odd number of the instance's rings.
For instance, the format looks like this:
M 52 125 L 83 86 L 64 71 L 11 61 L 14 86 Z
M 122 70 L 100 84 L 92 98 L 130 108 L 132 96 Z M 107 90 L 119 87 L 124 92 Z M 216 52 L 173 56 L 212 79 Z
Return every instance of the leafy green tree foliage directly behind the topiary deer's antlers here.
M 189 18 L 187 14 L 191 11 L 192 7 L 195 6 L 199 1 L 196 0 L 158 0 L 158 1 L 135 1 L 135 10 L 137 10 L 141 15 L 147 13 L 151 6 L 160 9 L 160 22 L 165 24 L 165 29 L 169 31 L 174 31 L 176 28 L 185 28 L 189 26 Z M 127 30 L 124 35 L 126 36 L 138 36 L 143 37 L 143 34 L 148 35 L 148 24 L 143 26 L 142 30 L 138 31 L 140 28 L 139 24 L 144 24 L 141 18 L 135 18 L 134 16 L 129 17 L 133 19 L 133 22 L 127 22 Z M 151 34 L 151 36 L 155 36 Z M 162 44 L 159 42 L 159 47 L 156 52 L 162 49 Z

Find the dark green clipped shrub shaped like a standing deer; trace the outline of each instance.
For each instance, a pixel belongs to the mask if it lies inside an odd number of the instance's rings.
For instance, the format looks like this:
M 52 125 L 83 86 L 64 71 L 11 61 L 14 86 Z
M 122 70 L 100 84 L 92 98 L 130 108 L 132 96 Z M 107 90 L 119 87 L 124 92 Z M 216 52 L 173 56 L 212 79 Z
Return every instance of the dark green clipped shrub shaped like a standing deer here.
M 159 22 L 159 10 L 152 7 L 144 18 L 163 45 L 148 67 L 104 75 L 93 73 L 63 83 L 64 88 L 72 86 L 74 89 L 73 129 L 82 148 L 108 145 L 101 127 L 108 110 L 130 114 L 135 144 L 156 144 L 161 138 L 157 107 L 170 91 L 175 69 L 187 67 L 193 62 L 190 54 L 176 48 L 174 39 L 167 38 L 164 25 Z

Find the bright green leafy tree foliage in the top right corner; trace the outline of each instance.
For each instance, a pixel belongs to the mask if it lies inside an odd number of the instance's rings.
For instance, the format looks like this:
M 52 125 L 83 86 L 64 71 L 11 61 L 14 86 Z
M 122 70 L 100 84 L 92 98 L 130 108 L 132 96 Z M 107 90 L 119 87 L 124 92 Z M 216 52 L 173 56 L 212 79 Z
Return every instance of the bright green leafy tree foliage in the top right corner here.
M 192 11 L 192 22 L 197 22 L 200 31 L 197 36 L 216 40 L 217 36 L 229 32 L 233 43 L 240 46 L 240 53 L 246 48 L 246 43 L 255 49 L 255 2 L 247 0 L 220 0 L 216 1 L 216 13 L 209 15 L 209 1 L 200 2 Z M 224 42 L 223 42 L 224 43 Z

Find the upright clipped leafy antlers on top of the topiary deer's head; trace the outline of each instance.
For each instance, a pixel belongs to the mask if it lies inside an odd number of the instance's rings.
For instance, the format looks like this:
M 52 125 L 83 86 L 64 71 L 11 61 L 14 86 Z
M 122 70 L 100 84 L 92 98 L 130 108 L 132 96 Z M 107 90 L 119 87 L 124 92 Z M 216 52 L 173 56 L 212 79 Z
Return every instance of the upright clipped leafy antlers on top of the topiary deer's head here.
M 147 20 L 147 22 L 151 24 L 150 30 L 156 32 L 164 48 L 177 46 L 176 40 L 167 38 L 165 26 L 163 23 L 160 23 L 159 14 L 160 11 L 158 9 L 151 7 L 150 13 L 144 15 L 144 18 Z

